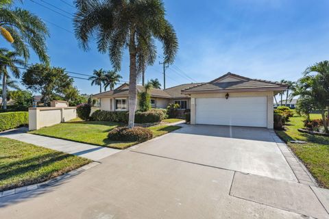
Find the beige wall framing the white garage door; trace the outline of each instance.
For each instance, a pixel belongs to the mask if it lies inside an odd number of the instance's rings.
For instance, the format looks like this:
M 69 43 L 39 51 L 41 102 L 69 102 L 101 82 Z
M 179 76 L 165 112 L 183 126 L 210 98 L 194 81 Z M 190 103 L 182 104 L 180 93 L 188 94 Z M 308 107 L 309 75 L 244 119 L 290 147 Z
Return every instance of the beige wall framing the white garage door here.
M 226 93 L 191 94 L 191 124 L 195 124 L 196 98 L 220 97 L 225 98 Z M 273 129 L 273 91 L 266 92 L 229 92 L 231 97 L 267 96 L 267 129 Z M 229 97 L 230 98 L 230 97 Z

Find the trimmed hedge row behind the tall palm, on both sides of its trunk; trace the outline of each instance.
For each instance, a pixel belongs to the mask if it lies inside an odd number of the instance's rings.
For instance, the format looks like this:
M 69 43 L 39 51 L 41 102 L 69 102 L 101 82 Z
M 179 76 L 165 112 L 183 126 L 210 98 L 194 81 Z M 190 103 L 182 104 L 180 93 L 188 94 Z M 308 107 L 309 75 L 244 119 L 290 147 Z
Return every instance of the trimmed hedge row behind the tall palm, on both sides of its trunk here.
M 128 113 L 115 111 L 97 110 L 91 115 L 91 120 L 95 121 L 111 121 L 117 123 L 128 123 Z M 136 112 L 135 123 L 158 123 L 162 120 L 163 113 L 156 111 Z

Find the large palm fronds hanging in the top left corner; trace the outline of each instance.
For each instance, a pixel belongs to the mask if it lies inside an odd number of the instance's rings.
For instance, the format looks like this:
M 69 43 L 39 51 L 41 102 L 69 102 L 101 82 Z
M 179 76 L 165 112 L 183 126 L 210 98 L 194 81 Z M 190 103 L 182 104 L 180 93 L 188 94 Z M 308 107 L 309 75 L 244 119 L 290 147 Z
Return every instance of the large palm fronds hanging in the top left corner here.
M 49 64 L 46 37 L 49 31 L 45 23 L 36 15 L 21 8 L 12 8 L 11 1 L 1 0 L 0 34 L 12 43 L 17 54 L 29 59 L 29 47 L 39 59 Z

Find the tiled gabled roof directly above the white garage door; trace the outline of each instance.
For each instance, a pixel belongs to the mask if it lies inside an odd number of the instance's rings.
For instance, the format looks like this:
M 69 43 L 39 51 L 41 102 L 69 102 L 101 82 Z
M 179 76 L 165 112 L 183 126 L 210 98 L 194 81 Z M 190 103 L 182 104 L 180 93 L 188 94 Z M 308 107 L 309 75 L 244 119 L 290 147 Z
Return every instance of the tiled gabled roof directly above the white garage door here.
M 273 81 L 250 79 L 241 75 L 227 73 L 208 83 L 182 90 L 183 94 L 206 92 L 252 92 L 267 90 L 286 90 L 287 85 Z

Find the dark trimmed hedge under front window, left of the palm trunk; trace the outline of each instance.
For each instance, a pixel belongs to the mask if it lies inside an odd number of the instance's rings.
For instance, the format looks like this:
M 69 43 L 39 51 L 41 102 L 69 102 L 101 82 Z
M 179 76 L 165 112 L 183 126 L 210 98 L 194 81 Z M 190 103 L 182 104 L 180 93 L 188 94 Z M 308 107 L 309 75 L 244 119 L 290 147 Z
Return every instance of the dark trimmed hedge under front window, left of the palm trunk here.
M 91 115 L 91 120 L 95 121 L 111 121 L 117 123 L 128 123 L 128 112 L 125 111 L 103 111 L 97 110 Z

